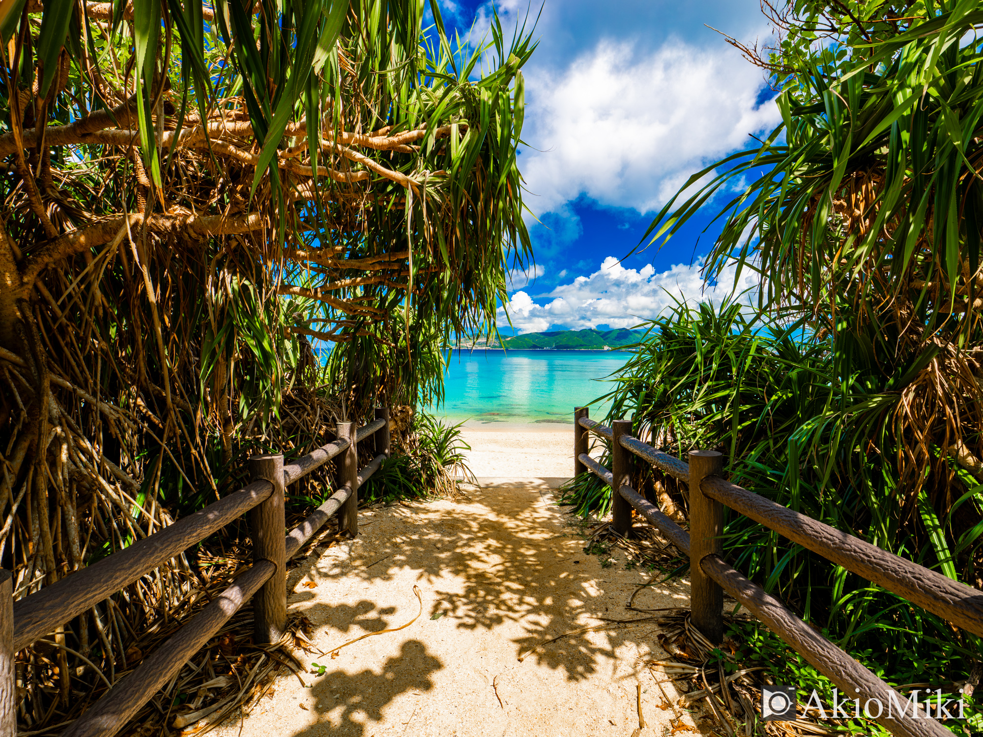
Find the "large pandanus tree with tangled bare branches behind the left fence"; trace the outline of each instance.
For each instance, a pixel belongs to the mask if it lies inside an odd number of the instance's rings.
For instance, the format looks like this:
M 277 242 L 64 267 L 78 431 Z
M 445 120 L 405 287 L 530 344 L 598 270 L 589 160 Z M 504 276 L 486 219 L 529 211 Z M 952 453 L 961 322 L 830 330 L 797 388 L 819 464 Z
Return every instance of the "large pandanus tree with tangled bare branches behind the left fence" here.
M 0 564 L 19 596 L 213 500 L 250 448 L 306 452 L 439 392 L 436 349 L 494 329 L 528 255 L 535 44 L 495 20 L 464 52 L 427 10 L 0 3 Z M 312 341 L 334 346 L 319 389 Z M 134 628 L 187 586 L 154 581 L 121 604 Z M 69 625 L 84 652 L 91 622 Z

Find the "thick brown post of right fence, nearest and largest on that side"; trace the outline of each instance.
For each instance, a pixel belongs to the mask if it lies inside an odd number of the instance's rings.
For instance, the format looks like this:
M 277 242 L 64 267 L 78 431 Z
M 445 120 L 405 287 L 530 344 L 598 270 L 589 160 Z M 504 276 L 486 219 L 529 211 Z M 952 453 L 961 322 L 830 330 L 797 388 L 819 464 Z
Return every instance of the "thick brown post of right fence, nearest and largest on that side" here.
M 723 552 L 723 504 L 700 490 L 708 476 L 720 476 L 723 455 L 689 451 L 689 581 L 692 622 L 714 645 L 723 642 L 723 589 L 703 572 L 700 561 Z

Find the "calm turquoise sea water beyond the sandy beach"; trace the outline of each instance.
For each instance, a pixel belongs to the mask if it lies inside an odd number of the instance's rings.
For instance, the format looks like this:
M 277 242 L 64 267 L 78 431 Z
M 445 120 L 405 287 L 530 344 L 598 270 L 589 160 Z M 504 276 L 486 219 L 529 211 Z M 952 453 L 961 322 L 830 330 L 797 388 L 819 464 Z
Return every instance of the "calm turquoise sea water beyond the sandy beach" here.
M 467 425 L 572 425 L 573 408 L 603 394 L 604 379 L 630 354 L 619 351 L 453 351 L 444 403 L 430 411 Z M 599 417 L 605 406 L 591 405 Z

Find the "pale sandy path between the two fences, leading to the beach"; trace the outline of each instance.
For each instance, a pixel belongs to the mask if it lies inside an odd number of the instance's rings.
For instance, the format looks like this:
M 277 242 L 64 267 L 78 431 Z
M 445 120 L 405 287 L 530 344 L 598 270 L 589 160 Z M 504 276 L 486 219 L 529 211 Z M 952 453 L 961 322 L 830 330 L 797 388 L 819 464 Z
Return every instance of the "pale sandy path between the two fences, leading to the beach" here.
M 324 673 L 304 674 L 303 686 L 295 676 L 281 676 L 248 716 L 237 713 L 216 733 L 642 737 L 697 731 L 690 713 L 666 701 L 678 698 L 672 684 L 657 685 L 646 666 L 667 658 L 651 623 L 546 642 L 601 624 L 599 618 L 642 616 L 624 604 L 649 580 L 629 570 L 617 551 L 607 567 L 585 554 L 579 522 L 553 504 L 552 487 L 572 466 L 571 434 L 469 430 L 480 479 L 469 498 L 363 511 L 358 538 L 316 548 L 288 580 L 290 610 L 310 619 L 315 645 L 331 652 L 380 634 L 333 658 L 298 651 L 306 664 L 325 666 Z M 685 606 L 687 582 L 649 588 L 635 603 Z M 641 730 L 638 685 L 648 724 Z

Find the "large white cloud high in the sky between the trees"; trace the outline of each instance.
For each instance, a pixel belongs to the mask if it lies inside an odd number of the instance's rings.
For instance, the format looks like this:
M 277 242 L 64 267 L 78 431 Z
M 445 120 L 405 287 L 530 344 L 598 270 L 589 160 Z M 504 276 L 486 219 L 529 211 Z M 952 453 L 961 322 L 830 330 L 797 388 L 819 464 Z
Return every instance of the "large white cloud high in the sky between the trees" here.
M 734 49 L 669 39 L 651 52 L 598 42 L 527 75 L 520 166 L 537 214 L 581 196 L 650 212 L 695 171 L 781 120 L 761 71 Z M 534 150 L 538 149 L 538 150 Z

